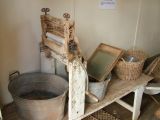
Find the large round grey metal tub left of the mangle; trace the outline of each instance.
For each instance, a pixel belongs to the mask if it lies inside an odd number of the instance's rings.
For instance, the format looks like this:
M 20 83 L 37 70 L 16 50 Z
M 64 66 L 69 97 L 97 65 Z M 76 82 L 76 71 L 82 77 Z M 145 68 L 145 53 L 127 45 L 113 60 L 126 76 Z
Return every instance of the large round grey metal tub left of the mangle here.
M 10 80 L 8 89 L 22 120 L 62 120 L 68 82 L 46 73 L 27 73 Z

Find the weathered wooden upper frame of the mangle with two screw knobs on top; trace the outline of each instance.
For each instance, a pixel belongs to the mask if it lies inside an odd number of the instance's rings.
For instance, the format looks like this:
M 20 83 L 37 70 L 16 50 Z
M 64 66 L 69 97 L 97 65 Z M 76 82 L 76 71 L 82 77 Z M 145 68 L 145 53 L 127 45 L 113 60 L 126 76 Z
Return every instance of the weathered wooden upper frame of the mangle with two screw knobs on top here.
M 66 59 L 63 60 L 66 62 L 71 61 L 76 55 L 80 55 L 78 38 L 74 33 L 74 22 L 69 20 L 70 15 L 68 13 L 63 15 L 65 19 L 60 19 L 47 14 L 49 11 L 48 8 L 42 9 L 42 12 L 45 12 L 44 15 L 41 15 L 42 44 L 47 46 L 50 52 L 56 53 L 56 58 Z M 49 40 L 47 33 L 61 37 L 64 39 L 64 44 L 60 45 L 56 41 Z M 72 50 L 73 45 L 77 47 L 74 50 Z

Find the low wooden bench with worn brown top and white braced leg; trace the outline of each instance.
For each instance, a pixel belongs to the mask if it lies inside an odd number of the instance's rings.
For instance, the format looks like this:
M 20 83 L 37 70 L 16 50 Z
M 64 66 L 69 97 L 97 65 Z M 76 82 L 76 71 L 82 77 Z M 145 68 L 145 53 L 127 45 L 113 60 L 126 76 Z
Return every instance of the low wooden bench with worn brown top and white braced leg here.
M 140 115 L 140 107 L 144 88 L 152 79 L 152 77 L 144 74 L 142 74 L 142 76 L 135 81 L 125 81 L 118 78 L 113 78 L 110 82 L 105 98 L 96 104 L 86 104 L 85 114 L 77 118 L 76 120 L 81 120 L 91 115 L 92 113 L 110 105 L 113 102 L 117 102 L 118 104 L 131 111 L 133 113 L 132 120 L 137 120 Z M 121 100 L 121 98 L 131 92 L 135 93 L 133 106 Z M 65 116 L 64 120 L 68 120 L 68 115 Z

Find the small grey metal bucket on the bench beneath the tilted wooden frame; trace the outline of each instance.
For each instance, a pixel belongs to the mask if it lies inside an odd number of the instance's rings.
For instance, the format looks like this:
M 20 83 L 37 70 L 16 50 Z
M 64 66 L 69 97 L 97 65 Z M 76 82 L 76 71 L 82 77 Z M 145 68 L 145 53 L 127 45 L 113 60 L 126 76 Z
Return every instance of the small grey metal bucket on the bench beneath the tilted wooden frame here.
M 109 74 L 109 76 L 104 81 L 101 82 L 90 81 L 88 86 L 89 92 L 95 95 L 99 101 L 103 100 L 106 95 L 107 86 L 110 80 L 111 80 L 111 74 Z M 89 97 L 86 98 L 86 102 L 95 103 L 95 101 L 93 101 Z

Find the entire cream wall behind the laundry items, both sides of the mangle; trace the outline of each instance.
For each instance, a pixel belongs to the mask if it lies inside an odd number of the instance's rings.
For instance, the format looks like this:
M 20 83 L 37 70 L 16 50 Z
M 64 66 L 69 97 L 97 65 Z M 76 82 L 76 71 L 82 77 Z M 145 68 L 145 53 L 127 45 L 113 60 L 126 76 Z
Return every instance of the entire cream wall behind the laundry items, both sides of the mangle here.
M 133 47 L 139 0 L 117 0 L 115 10 L 101 10 L 100 0 L 0 0 L 0 100 L 11 101 L 8 73 L 40 69 L 39 16 L 42 7 L 51 15 L 69 12 L 76 22 L 81 48 L 89 56 L 101 42 L 124 49 Z M 160 51 L 160 0 L 142 0 L 136 48 L 150 54 Z M 75 15 L 74 15 L 75 14 Z

